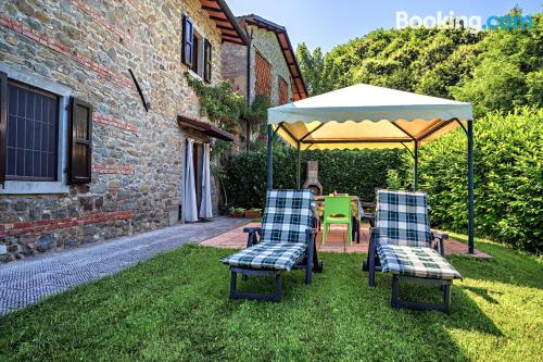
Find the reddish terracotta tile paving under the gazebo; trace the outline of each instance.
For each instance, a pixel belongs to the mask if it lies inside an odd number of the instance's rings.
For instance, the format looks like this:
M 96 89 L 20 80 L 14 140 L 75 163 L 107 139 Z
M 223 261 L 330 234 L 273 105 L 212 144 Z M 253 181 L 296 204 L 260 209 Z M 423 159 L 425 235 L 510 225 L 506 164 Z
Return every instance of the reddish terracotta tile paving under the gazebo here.
M 260 223 L 250 223 L 244 226 L 235 228 L 228 233 L 217 235 L 211 239 L 202 241 L 201 245 L 215 248 L 236 248 L 243 249 L 247 246 L 247 234 L 243 234 L 243 227 L 260 226 Z M 361 227 L 361 244 L 353 240 L 352 245 L 346 241 L 346 227 L 343 225 L 332 225 L 331 232 L 328 235 L 328 240 L 325 246 L 320 242 L 321 233 L 317 234 L 317 248 L 319 251 L 327 252 L 362 252 L 367 253 L 369 246 L 369 229 L 367 225 Z M 445 255 L 469 255 L 468 246 L 455 239 L 445 241 Z M 492 257 L 475 250 L 475 254 L 470 255 L 478 259 L 491 259 Z

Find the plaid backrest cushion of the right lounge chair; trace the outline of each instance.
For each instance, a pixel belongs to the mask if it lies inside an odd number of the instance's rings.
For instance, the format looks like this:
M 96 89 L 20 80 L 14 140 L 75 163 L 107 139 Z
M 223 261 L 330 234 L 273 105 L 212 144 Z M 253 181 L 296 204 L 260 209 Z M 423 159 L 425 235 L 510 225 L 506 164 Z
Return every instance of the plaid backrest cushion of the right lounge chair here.
M 432 233 L 427 195 L 378 190 L 376 226 L 379 245 L 430 247 Z

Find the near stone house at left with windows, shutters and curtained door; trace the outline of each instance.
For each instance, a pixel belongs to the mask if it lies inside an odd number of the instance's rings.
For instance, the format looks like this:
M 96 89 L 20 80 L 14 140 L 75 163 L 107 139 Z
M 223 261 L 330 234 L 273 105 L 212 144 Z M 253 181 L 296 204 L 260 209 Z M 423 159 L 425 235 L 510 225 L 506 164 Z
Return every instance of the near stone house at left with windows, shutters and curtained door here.
M 206 145 L 231 135 L 186 73 L 217 85 L 229 42 L 224 0 L 1 1 L 0 261 L 216 209 Z

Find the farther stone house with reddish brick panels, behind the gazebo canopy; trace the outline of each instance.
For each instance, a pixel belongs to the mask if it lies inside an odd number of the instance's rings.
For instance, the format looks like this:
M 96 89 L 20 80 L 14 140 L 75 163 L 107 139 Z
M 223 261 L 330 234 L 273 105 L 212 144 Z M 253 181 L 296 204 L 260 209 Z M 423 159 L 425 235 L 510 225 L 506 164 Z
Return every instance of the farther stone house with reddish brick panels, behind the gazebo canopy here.
M 223 77 L 252 103 L 264 95 L 272 104 L 285 104 L 307 98 L 307 89 L 298 65 L 287 29 L 261 16 L 238 16 L 248 34 L 248 46 L 223 46 Z M 247 142 L 258 134 L 245 125 Z

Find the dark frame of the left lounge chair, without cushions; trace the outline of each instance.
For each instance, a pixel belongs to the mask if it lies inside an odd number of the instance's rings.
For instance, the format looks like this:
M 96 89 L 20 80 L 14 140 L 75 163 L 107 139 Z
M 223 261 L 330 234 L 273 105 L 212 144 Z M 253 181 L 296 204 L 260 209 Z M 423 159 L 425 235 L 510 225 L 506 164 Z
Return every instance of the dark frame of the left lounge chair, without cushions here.
M 247 238 L 248 248 L 260 244 L 260 236 L 262 234 L 261 227 L 245 227 L 243 228 L 243 233 L 249 234 Z M 293 266 L 293 269 L 305 269 L 305 285 L 312 284 L 313 272 L 323 272 L 323 261 L 319 261 L 317 257 L 315 234 L 315 228 L 307 228 L 305 230 L 307 248 L 304 257 Z M 230 299 L 250 299 L 278 302 L 282 297 L 282 273 L 283 271 L 230 266 Z M 238 274 L 241 274 L 242 280 L 247 280 L 249 276 L 275 276 L 274 292 L 262 294 L 241 291 L 237 289 Z

